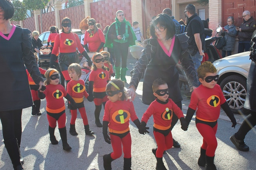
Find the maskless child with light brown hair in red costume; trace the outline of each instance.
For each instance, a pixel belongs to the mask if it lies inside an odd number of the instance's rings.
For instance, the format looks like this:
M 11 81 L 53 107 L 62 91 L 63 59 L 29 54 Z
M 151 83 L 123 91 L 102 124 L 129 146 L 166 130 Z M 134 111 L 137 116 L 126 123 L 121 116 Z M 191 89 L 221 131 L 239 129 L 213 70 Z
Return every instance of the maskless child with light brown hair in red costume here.
M 80 76 L 82 75 L 81 66 L 77 63 L 70 64 L 70 66 L 68 67 L 68 74 L 71 80 L 70 82 L 68 82 L 67 92 L 76 102 L 76 107 L 70 105 L 71 119 L 70 119 L 69 133 L 73 136 L 78 135 L 76 133 L 76 128 L 75 128 L 77 109 L 78 109 L 83 119 L 85 134 L 92 136 L 94 132 L 89 129 L 88 119 L 87 119 L 86 111 L 84 108 L 83 96 L 88 98 L 88 93 L 86 92 L 86 89 L 85 89 L 84 80 L 80 79 Z

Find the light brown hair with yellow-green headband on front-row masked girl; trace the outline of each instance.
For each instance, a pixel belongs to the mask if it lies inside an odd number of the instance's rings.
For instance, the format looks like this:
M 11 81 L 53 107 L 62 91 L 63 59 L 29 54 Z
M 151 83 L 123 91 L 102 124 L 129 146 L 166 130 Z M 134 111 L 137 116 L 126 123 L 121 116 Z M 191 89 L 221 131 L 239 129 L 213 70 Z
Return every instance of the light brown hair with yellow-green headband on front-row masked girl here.
M 116 90 L 120 90 L 120 92 L 122 92 L 121 100 L 126 100 L 126 91 L 124 90 L 124 82 L 120 79 L 113 79 L 109 81 L 106 86 L 106 91 L 116 91 Z

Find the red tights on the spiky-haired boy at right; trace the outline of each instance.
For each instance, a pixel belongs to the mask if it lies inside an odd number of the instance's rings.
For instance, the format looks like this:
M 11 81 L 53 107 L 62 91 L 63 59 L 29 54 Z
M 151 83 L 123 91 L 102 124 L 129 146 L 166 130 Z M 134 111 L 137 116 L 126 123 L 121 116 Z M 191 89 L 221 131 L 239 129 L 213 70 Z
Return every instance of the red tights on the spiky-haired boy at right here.
M 215 136 L 218 128 L 218 123 L 214 127 L 211 127 L 204 123 L 196 123 L 196 128 L 203 137 L 203 144 L 201 148 L 206 150 L 207 156 L 214 156 L 215 150 L 218 145 Z

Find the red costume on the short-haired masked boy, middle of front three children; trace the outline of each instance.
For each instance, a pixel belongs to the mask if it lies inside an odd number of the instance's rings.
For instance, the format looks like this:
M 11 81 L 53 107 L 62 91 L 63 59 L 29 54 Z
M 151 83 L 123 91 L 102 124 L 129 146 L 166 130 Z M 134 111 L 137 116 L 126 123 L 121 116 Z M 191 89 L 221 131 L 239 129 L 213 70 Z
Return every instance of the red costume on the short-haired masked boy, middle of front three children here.
M 158 146 L 156 157 L 158 158 L 162 158 L 164 150 L 170 149 L 173 145 L 170 129 L 173 114 L 177 115 L 178 119 L 184 117 L 180 108 L 169 98 L 166 102 L 154 100 L 142 116 L 141 122 L 147 123 L 153 115 L 154 137 Z

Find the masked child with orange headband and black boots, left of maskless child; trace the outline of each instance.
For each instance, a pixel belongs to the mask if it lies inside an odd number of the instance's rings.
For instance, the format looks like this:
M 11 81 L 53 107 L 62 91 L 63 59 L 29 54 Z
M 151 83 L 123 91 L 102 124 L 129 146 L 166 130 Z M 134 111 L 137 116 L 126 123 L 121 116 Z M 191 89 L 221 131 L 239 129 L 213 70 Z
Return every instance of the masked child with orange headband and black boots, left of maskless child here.
M 72 148 L 67 142 L 66 131 L 66 113 L 65 103 L 63 97 L 66 98 L 73 106 L 76 106 L 74 99 L 66 92 L 65 88 L 60 84 L 58 71 L 54 68 L 49 68 L 44 76 L 46 80 L 46 90 L 38 93 L 40 99 L 46 98 L 46 113 L 49 122 L 49 134 L 52 145 L 57 145 L 58 141 L 54 136 L 56 121 L 58 121 L 58 128 L 60 131 L 60 138 L 64 150 L 71 150 Z

